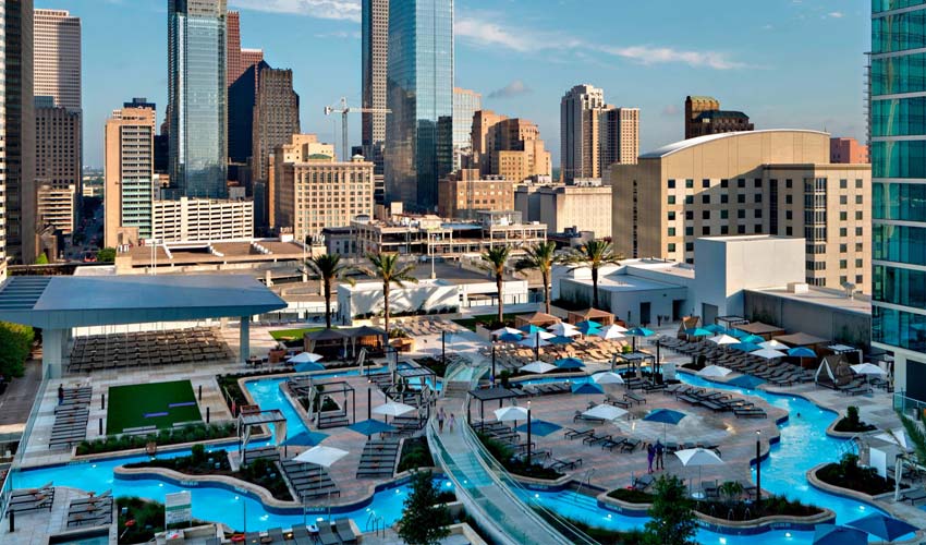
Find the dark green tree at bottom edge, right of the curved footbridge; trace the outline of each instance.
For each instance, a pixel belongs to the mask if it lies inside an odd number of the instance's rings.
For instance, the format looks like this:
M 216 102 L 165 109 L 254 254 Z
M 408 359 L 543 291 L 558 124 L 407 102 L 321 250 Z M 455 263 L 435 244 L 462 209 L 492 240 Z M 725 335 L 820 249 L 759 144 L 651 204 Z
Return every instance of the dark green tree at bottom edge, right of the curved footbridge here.
M 654 489 L 653 507 L 649 508 L 651 519 L 644 526 L 644 542 L 650 545 L 695 545 L 697 524 L 685 483 L 675 475 L 662 475 Z

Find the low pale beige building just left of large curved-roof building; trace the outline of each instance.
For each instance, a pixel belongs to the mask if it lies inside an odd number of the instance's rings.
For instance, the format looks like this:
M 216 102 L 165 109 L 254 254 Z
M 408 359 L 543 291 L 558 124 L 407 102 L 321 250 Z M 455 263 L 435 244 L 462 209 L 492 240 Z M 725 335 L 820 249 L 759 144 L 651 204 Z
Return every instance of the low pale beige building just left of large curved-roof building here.
M 611 237 L 611 186 L 574 181 L 572 185 L 519 185 L 514 209 L 526 221 L 539 221 L 549 233 L 590 231 L 596 239 Z

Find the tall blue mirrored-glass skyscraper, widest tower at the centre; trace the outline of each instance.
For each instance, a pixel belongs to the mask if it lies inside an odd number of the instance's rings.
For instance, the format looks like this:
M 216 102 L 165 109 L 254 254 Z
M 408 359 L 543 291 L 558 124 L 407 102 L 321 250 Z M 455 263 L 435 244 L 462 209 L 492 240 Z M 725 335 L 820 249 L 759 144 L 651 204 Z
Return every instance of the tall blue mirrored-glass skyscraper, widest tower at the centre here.
M 386 193 L 434 210 L 453 164 L 453 0 L 389 5 Z

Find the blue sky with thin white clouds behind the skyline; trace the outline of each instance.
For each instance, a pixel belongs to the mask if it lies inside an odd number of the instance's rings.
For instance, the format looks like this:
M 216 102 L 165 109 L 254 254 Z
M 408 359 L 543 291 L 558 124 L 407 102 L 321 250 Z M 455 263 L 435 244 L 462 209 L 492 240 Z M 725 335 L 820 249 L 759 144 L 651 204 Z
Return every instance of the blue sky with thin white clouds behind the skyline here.
M 242 47 L 291 68 L 303 132 L 340 141 L 360 106 L 360 0 L 228 0 Z M 166 0 L 36 0 L 83 24 L 84 162 L 102 165 L 103 125 L 132 97 L 167 97 Z M 455 0 L 455 85 L 483 107 L 536 122 L 559 165 L 559 105 L 573 85 L 641 108 L 641 152 L 681 140 L 686 95 L 711 95 L 757 129 L 865 135 L 867 0 Z M 360 143 L 360 116 L 350 124 Z

